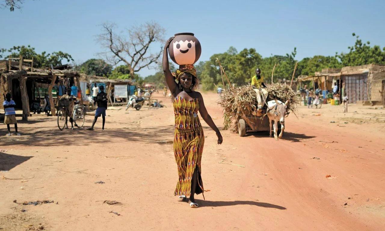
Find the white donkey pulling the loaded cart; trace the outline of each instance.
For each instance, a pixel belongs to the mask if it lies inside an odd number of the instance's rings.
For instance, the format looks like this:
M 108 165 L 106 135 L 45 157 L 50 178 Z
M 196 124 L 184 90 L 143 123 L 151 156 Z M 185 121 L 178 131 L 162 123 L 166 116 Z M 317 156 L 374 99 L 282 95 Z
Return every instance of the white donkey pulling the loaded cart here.
M 273 105 L 270 107 L 266 114 L 269 117 L 269 123 L 270 123 L 270 136 L 271 137 L 271 124 L 272 121 L 274 121 L 274 138 L 275 140 L 278 140 L 278 138 L 282 138 L 283 130 L 285 130 L 285 115 L 286 115 L 286 108 L 289 103 L 289 100 L 286 100 L 285 104 L 278 102 L 278 100 L 275 99 L 276 105 Z M 278 121 L 281 123 L 281 133 L 278 136 Z

